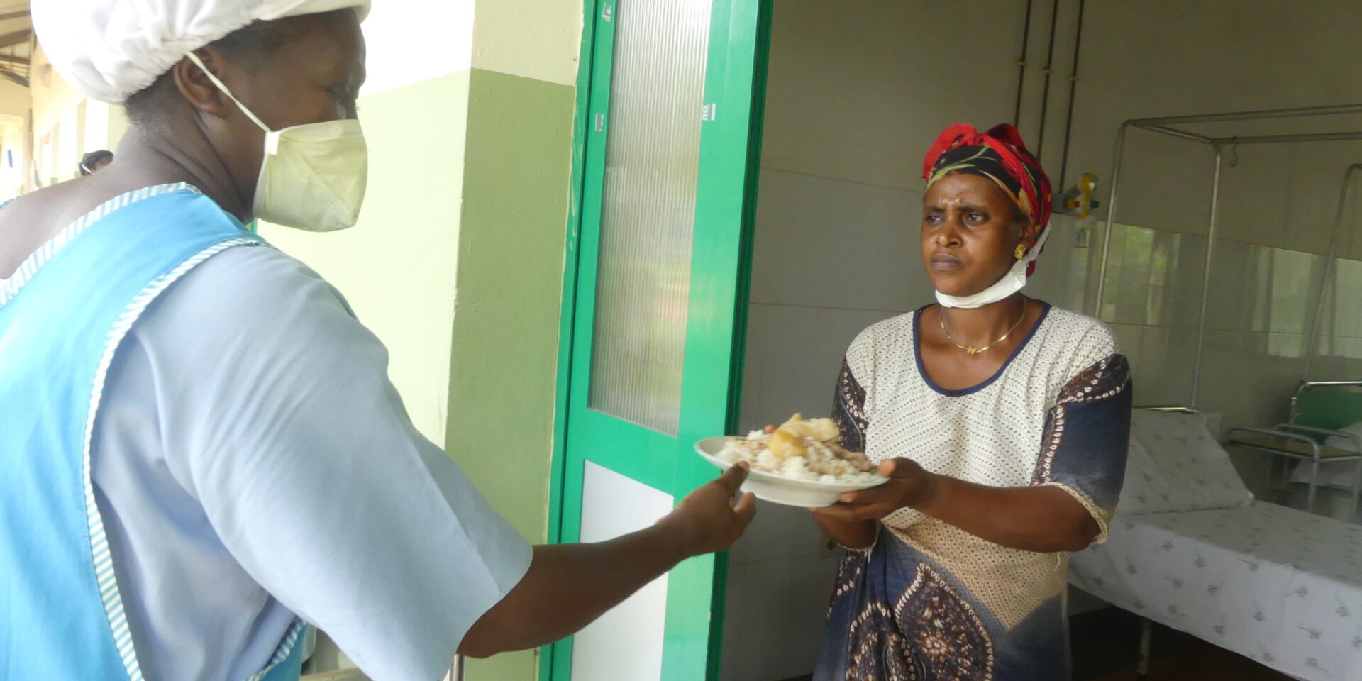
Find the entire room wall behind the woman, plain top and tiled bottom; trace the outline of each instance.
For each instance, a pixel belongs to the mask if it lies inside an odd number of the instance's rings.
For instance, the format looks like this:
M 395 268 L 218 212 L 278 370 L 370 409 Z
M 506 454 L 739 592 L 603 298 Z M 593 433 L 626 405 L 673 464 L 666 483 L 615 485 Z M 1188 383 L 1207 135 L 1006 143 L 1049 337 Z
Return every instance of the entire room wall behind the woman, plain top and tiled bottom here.
M 1355 31 L 1344 20 L 1362 5 L 1327 4 L 1328 12 L 1314 14 L 1249 4 L 1229 27 L 1211 5 L 1088 3 L 1071 181 L 1080 172 L 1109 180 L 1111 142 L 1125 118 L 1362 101 L 1362 80 L 1354 78 L 1362 53 L 1351 49 Z M 1073 26 L 1066 22 L 1076 0 L 1060 5 L 1057 54 L 1069 54 Z M 835 11 L 819 0 L 778 3 L 744 428 L 794 411 L 825 415 L 857 332 L 932 301 L 917 247 L 921 154 L 952 121 L 983 128 L 1011 120 L 1022 16 L 1022 5 L 1000 11 L 990 0 L 850 0 Z M 1046 35 L 1047 23 L 1049 10 L 1036 12 L 1032 38 Z M 968 50 L 952 49 L 959 45 Z M 1045 41 L 1031 45 L 1030 60 L 1043 63 L 1035 50 Z M 1056 72 L 1066 68 L 1058 63 Z M 1041 98 L 1035 74 L 1020 121 L 1031 142 Z M 1051 99 L 1050 110 L 1061 110 L 1060 102 Z M 1046 128 L 1042 158 L 1051 172 L 1062 127 L 1062 117 L 1051 116 Z M 1258 132 L 1288 129 L 1268 124 L 1224 133 Z M 1339 180 L 1348 163 L 1362 161 L 1362 144 L 1226 151 L 1200 406 L 1222 413 L 1227 428 L 1284 414 L 1303 368 Z M 1139 403 L 1190 398 L 1212 159 L 1208 147 L 1185 140 L 1129 138 L 1118 210 L 1124 225 L 1111 233 L 1100 316 L 1132 362 Z M 1099 197 L 1106 203 L 1106 187 Z M 1362 202 L 1352 212 L 1362 214 Z M 1362 379 L 1358 222 L 1340 240 L 1339 252 L 1355 260 L 1337 268 L 1340 296 L 1314 379 Z M 1027 293 L 1092 313 L 1102 223 L 1057 217 L 1051 229 Z M 1237 463 L 1246 473 L 1261 464 Z M 814 556 L 817 541 L 806 511 L 761 504 L 731 556 L 725 681 L 810 671 L 836 568 L 835 560 Z

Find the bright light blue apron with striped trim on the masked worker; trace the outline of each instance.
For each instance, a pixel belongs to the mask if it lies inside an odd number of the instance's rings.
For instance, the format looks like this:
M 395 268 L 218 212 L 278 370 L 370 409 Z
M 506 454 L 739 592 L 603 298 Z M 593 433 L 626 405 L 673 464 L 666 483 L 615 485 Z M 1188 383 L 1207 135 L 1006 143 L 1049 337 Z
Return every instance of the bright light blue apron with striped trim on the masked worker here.
M 142 680 L 90 482 L 105 375 L 147 305 L 264 241 L 185 185 L 118 196 L 0 282 L 0 681 Z M 302 622 L 249 681 L 297 680 Z

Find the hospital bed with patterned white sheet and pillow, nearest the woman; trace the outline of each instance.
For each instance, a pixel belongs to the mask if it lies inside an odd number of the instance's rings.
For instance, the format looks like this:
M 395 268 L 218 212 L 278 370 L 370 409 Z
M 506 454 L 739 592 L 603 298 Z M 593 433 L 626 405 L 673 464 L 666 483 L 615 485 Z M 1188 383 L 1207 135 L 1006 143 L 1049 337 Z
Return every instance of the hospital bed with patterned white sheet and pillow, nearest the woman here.
M 1295 678 L 1362 680 L 1362 526 L 1254 500 L 1192 410 L 1136 410 L 1110 535 L 1069 580 Z

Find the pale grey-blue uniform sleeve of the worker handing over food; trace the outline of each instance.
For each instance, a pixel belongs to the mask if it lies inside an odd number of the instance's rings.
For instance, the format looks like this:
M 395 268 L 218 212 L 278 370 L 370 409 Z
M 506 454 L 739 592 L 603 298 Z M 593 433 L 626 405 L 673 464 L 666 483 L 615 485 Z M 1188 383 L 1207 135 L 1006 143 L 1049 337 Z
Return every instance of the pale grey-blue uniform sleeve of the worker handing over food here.
M 158 301 L 168 466 L 233 557 L 375 680 L 434 680 L 528 543 L 411 425 L 383 343 L 270 248 Z M 173 294 L 172 294 L 173 293 Z

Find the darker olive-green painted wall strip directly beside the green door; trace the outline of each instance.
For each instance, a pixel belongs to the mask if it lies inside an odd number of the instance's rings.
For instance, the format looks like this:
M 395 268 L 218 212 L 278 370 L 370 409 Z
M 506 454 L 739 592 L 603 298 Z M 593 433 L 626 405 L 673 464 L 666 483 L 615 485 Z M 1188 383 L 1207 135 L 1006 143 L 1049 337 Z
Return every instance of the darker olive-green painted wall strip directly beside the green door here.
M 548 523 L 573 89 L 473 69 L 445 449 L 531 542 Z M 535 652 L 470 661 L 531 681 Z

